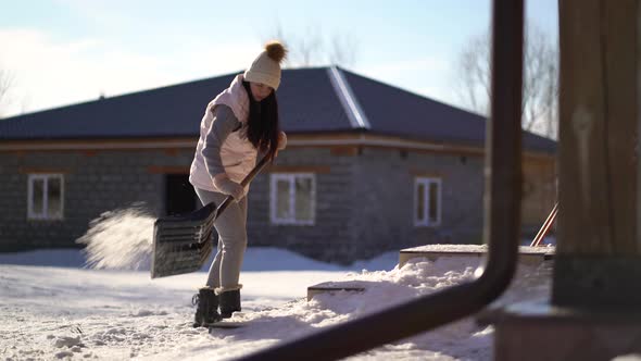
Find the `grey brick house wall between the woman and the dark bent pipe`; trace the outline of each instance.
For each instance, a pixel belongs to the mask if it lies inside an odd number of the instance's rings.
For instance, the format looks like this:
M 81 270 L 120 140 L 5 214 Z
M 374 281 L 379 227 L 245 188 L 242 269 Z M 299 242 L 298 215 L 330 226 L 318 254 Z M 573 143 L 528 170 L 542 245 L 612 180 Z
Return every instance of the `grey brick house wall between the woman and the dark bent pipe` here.
M 318 172 L 315 226 L 271 224 L 269 174 L 314 170 Z M 350 263 L 405 247 L 481 240 L 480 155 L 297 148 L 284 152 L 267 172 L 254 180 L 250 192 L 250 245 Z M 414 179 L 426 175 L 442 179 L 443 221 L 437 227 L 414 226 Z

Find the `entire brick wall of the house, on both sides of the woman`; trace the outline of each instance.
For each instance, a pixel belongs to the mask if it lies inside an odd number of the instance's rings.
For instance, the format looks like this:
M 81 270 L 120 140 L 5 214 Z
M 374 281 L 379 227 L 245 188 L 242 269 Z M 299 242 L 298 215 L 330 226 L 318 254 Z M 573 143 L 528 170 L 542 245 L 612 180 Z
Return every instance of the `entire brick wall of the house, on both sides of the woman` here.
M 78 247 L 75 239 L 86 233 L 91 220 L 137 202 L 159 216 L 165 210 L 165 174 L 187 174 L 192 155 L 191 148 L 0 152 L 0 250 Z M 250 246 L 280 247 L 344 264 L 418 245 L 478 244 L 482 164 L 480 153 L 290 147 L 252 184 Z M 535 169 L 553 170 L 550 164 L 553 161 L 539 159 Z M 269 221 L 271 176 L 299 172 L 315 177 L 315 224 L 274 225 Z M 63 174 L 63 221 L 27 220 L 27 179 L 34 173 Z M 442 222 L 436 227 L 414 226 L 414 182 L 425 176 L 442 182 Z M 524 206 L 532 214 L 524 220 L 544 220 L 546 206 L 551 208 L 553 197 L 545 179 L 543 175 L 532 177 L 536 197 L 529 195 Z M 536 206 L 535 200 L 551 204 Z

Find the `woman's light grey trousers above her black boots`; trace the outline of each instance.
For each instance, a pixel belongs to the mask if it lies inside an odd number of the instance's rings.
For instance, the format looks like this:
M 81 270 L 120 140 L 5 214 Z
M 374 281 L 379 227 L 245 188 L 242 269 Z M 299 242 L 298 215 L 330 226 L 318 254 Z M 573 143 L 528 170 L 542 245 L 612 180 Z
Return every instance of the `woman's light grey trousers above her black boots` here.
M 226 195 L 196 188 L 203 204 L 212 201 L 221 204 Z M 240 266 L 247 249 L 247 197 L 231 202 L 214 223 L 218 232 L 218 248 L 210 267 L 206 285 L 212 288 L 231 290 L 240 288 Z

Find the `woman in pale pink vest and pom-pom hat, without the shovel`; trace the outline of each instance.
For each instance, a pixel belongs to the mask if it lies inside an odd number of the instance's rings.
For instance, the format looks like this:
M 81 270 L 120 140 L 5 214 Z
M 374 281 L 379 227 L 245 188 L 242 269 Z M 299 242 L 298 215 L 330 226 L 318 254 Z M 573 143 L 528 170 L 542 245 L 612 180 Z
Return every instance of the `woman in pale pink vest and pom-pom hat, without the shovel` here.
M 276 100 L 285 55 L 280 42 L 268 42 L 250 67 L 208 104 L 200 124 L 189 182 L 203 204 L 219 204 L 228 196 L 235 201 L 214 223 L 217 252 L 205 287 L 194 297 L 194 327 L 206 327 L 241 310 L 239 278 L 247 248 L 249 186 L 240 182 L 255 165 L 259 153 L 273 161 L 287 144 Z

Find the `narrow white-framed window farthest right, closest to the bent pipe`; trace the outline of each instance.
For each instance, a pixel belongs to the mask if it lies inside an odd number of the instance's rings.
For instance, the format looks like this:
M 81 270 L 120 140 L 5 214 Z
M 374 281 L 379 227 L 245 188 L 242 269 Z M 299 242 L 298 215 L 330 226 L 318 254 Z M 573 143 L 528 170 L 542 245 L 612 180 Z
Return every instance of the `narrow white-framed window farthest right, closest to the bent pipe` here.
M 419 177 L 414 182 L 414 225 L 441 224 L 441 179 Z

